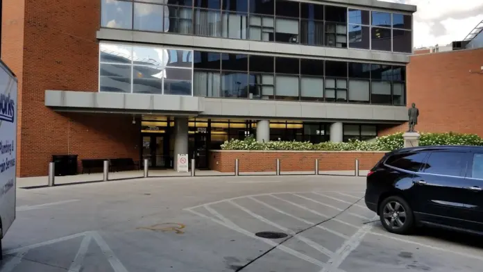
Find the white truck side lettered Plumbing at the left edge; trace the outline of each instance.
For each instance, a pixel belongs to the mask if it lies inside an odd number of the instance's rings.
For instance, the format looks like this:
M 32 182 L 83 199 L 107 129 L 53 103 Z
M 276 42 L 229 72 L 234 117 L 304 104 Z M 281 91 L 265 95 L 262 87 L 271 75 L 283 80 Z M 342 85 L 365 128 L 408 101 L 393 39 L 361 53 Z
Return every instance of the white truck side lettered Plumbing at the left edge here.
M 0 60 L 0 260 L 1 239 L 15 220 L 17 78 Z

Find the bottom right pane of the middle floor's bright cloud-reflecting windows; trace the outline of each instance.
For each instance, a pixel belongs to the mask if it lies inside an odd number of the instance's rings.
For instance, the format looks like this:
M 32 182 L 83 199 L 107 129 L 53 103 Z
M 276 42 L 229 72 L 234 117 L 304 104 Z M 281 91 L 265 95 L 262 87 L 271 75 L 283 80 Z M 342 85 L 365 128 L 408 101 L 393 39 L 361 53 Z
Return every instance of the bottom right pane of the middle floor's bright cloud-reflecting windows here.
M 192 70 L 166 68 L 163 94 L 192 95 Z

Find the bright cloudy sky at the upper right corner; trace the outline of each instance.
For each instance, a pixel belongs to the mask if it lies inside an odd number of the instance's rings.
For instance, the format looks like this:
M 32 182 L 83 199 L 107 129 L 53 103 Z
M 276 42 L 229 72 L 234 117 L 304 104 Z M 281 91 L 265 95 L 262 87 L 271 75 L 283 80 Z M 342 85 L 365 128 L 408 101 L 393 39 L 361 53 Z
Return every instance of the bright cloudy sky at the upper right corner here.
M 463 40 L 483 20 L 483 0 L 380 0 L 418 6 L 414 47 Z

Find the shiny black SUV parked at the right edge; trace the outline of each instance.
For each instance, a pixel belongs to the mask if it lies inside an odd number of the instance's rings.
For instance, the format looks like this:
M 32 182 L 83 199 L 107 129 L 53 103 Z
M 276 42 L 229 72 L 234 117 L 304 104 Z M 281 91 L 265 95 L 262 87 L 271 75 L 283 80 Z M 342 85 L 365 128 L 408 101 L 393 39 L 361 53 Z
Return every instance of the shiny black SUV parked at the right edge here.
M 435 226 L 483 235 L 483 147 L 386 153 L 367 175 L 365 200 L 389 232 Z

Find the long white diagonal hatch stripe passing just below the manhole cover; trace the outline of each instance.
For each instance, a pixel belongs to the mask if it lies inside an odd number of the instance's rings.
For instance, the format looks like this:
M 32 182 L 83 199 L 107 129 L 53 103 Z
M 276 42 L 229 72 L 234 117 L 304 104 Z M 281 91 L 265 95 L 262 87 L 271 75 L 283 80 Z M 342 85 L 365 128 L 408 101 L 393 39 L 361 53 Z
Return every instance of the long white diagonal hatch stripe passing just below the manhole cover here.
M 295 257 L 298 257 L 301 260 L 305 260 L 307 262 L 310 262 L 312 264 L 315 264 L 315 265 L 321 266 L 321 267 L 324 267 L 324 266 L 327 265 L 327 264 L 325 264 L 325 262 L 321 262 L 319 260 L 315 260 L 314 258 L 312 258 L 310 256 L 307 256 L 305 254 L 299 253 L 298 251 L 293 250 L 291 248 L 288 248 L 287 246 L 279 245 L 278 243 L 276 243 L 274 241 L 271 241 L 269 239 L 264 239 L 264 238 L 257 237 L 252 232 L 248 232 L 247 230 L 244 230 L 243 228 L 239 228 L 236 225 L 231 225 L 231 224 L 224 223 L 221 220 L 214 219 L 214 218 L 212 218 L 210 216 L 206 216 L 205 214 L 201 214 L 200 212 L 196 212 L 196 211 L 191 210 L 191 209 L 185 209 L 185 210 L 187 210 L 188 212 L 192 212 L 193 214 L 196 214 L 198 216 L 201 216 L 201 217 L 203 217 L 205 219 L 210 219 L 211 221 L 214 221 L 215 223 L 219 223 L 221 226 L 225 226 L 226 228 L 230 228 L 232 230 L 235 230 L 236 232 L 240 232 L 240 233 L 242 233 L 242 234 L 244 234 L 244 235 L 246 235 L 248 237 L 251 237 L 253 239 L 257 239 L 257 240 L 263 241 L 264 243 L 269 244 L 270 246 L 276 246 L 278 249 L 284 251 L 285 253 L 288 253 L 290 255 L 293 255 Z

